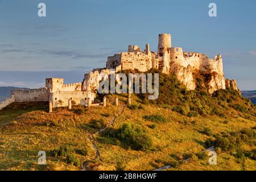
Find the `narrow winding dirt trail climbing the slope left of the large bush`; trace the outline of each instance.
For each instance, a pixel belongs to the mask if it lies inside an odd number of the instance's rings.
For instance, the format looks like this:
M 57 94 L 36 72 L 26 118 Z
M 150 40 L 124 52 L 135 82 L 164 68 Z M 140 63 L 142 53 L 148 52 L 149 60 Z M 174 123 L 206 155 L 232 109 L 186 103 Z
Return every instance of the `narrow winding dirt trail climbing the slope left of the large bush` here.
M 123 111 L 125 111 L 125 106 L 124 106 L 124 105 L 121 105 L 121 113 L 118 114 L 117 116 L 115 116 L 114 118 L 112 118 L 111 121 L 109 122 L 109 124 L 106 125 L 106 127 L 104 127 L 104 129 L 98 130 L 98 131 L 96 131 L 96 132 L 94 132 L 94 133 L 90 133 L 90 135 L 88 135 L 88 139 L 89 139 L 90 143 L 92 143 L 92 146 L 93 146 L 93 148 L 94 148 L 94 150 L 95 150 L 95 152 L 96 152 L 96 156 L 95 156 L 94 159 L 88 160 L 88 161 L 86 161 L 86 162 L 84 162 L 84 163 L 82 164 L 82 171 L 86 171 L 86 166 L 87 166 L 87 164 L 88 164 L 89 162 L 92 162 L 93 160 L 96 160 L 96 159 L 98 159 L 98 158 L 100 157 L 100 152 L 98 151 L 98 148 L 97 148 L 97 146 L 96 146 L 96 143 L 95 143 L 95 140 L 94 140 L 94 138 L 93 138 L 93 135 L 102 133 L 102 132 L 105 131 L 109 126 L 112 126 L 112 125 L 114 124 L 114 122 L 115 122 L 115 119 L 117 119 L 121 114 L 123 114 Z

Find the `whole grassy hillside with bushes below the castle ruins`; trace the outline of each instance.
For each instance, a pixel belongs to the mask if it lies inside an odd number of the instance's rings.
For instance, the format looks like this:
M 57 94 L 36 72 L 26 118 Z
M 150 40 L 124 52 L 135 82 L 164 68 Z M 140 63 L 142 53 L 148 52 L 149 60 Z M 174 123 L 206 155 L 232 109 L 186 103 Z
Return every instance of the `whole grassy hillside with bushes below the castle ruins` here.
M 197 89 L 187 91 L 175 76 L 161 74 L 159 99 L 133 94 L 130 106 L 127 94 L 109 94 L 107 107 L 53 113 L 47 103 L 14 103 L 0 111 L 0 169 L 255 170 L 255 106 L 232 89 L 210 96 L 204 76 L 197 78 Z M 202 152 L 210 146 L 217 165 Z M 37 163 L 42 150 L 46 166 Z

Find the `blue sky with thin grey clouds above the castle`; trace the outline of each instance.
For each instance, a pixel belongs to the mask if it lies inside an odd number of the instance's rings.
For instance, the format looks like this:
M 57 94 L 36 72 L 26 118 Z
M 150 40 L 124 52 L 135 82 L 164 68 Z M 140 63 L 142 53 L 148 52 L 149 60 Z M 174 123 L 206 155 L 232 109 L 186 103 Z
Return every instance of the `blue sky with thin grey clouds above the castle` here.
M 210 2 L 217 17 L 208 16 Z M 241 90 L 256 89 L 255 0 L 0 0 L 0 86 L 36 88 L 46 77 L 82 81 L 128 45 L 149 43 L 156 51 L 162 32 L 184 51 L 221 53 L 225 76 Z

